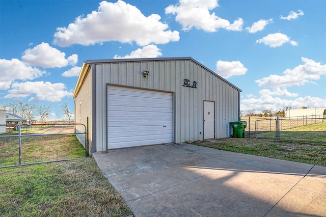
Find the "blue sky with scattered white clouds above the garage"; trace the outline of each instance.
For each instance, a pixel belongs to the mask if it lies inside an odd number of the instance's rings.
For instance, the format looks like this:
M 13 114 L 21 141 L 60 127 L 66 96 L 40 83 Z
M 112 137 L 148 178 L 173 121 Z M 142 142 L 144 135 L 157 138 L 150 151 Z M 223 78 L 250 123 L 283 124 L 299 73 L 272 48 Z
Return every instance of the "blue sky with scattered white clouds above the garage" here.
M 62 119 L 83 61 L 192 57 L 241 110 L 326 107 L 326 1 L 0 1 L 0 104 Z

